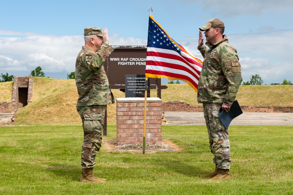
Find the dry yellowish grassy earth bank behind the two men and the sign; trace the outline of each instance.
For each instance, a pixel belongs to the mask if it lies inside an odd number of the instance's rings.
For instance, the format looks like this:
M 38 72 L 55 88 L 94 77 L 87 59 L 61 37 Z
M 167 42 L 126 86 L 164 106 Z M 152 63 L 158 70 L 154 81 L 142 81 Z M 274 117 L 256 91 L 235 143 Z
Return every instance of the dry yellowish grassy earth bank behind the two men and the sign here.
M 0 83 L 0 101 L 11 101 L 13 82 Z M 162 89 L 162 101 L 185 101 L 198 106 L 197 93 L 188 84 L 166 84 Z M 125 93 L 112 89 L 115 98 Z M 237 100 L 241 106 L 293 106 L 293 85 L 246 85 L 240 86 Z M 156 90 L 151 89 L 151 97 Z M 75 80 L 33 78 L 32 103 L 21 108 L 13 125 L 80 125 L 76 111 L 78 99 Z M 107 106 L 108 124 L 116 124 L 116 104 Z

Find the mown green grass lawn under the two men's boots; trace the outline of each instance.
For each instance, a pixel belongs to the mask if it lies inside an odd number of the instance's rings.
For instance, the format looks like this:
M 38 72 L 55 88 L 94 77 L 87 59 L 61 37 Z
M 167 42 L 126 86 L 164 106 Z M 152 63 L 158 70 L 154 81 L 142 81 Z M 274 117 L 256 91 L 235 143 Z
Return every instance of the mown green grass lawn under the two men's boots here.
M 293 126 L 230 126 L 230 180 L 210 182 L 205 126 L 163 126 L 181 152 L 106 152 L 80 183 L 81 126 L 0 127 L 0 194 L 293 194 Z M 116 126 L 108 136 L 116 139 Z

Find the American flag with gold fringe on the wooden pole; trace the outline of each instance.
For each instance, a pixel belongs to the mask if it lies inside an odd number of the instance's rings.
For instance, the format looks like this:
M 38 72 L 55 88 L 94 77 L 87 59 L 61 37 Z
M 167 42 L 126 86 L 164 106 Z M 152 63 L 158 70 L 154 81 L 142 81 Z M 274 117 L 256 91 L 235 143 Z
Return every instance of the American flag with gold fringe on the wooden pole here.
M 146 77 L 182 80 L 197 92 L 202 60 L 176 43 L 149 15 Z

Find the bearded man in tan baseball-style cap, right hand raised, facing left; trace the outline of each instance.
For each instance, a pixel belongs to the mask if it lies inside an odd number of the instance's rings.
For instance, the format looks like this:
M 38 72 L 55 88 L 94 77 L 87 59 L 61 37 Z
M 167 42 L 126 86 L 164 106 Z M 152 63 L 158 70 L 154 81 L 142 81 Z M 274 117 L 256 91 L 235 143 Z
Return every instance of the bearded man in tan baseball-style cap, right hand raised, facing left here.
M 225 112 L 236 98 L 241 82 L 241 66 L 236 49 L 228 43 L 222 20 L 213 18 L 200 27 L 198 47 L 204 61 L 198 81 L 197 101 L 203 103 L 209 135 L 209 148 L 214 155 L 215 171 L 200 177 L 210 180 L 229 179 L 230 142 L 228 129 L 219 120 L 220 108 Z M 205 31 L 206 45 L 203 44 Z

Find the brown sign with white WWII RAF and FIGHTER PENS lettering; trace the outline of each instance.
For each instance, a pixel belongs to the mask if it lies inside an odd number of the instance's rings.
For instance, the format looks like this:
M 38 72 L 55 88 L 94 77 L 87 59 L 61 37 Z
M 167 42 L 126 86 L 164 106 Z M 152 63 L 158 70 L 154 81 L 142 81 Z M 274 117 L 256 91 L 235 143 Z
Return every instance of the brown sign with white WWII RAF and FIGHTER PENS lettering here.
M 125 75 L 144 75 L 147 61 L 147 46 L 112 46 L 114 52 L 104 63 L 111 89 L 125 90 Z M 161 98 L 161 79 L 150 78 L 150 89 L 157 89 Z

